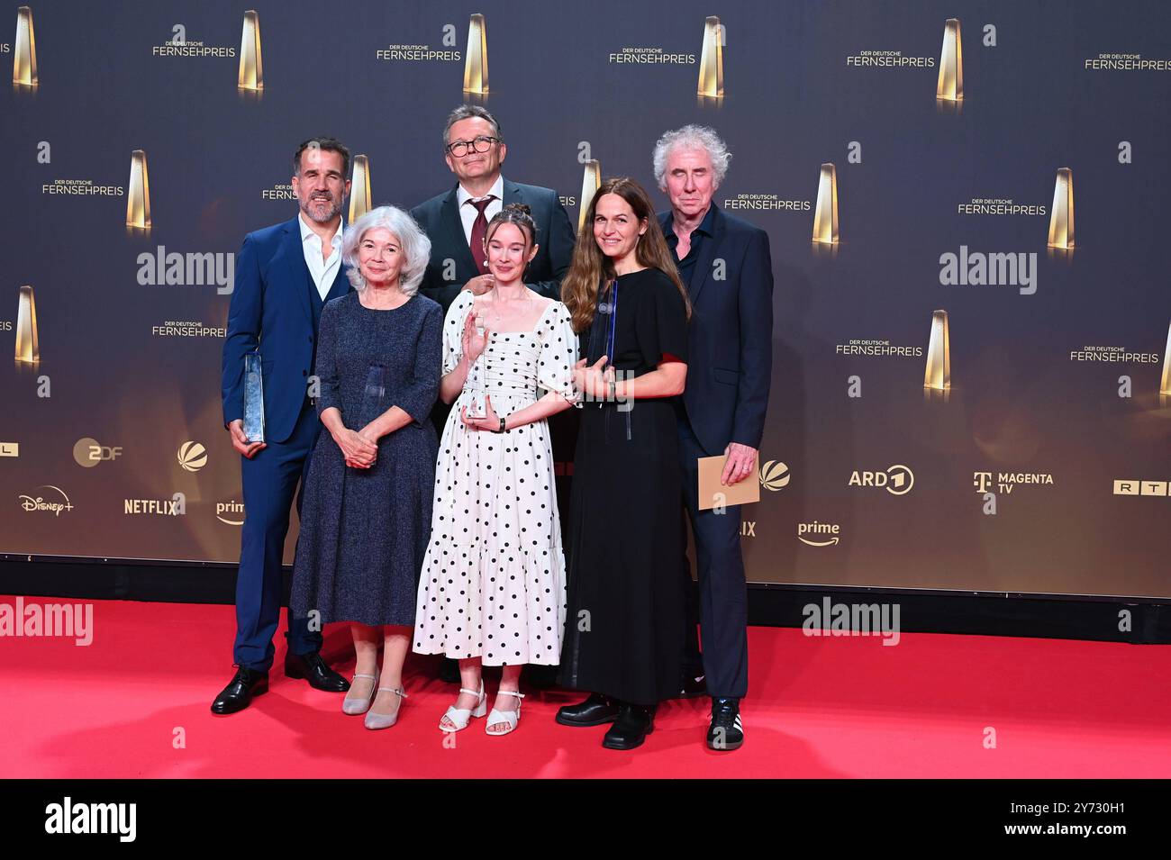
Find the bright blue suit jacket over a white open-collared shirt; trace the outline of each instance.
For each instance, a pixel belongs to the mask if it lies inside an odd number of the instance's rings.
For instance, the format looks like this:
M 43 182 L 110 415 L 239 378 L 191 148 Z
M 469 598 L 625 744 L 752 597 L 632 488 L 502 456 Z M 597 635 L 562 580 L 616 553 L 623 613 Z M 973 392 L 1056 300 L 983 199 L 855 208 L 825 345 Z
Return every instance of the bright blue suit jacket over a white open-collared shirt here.
M 326 301 L 351 289 L 340 266 Z M 297 218 L 244 238 L 227 312 L 221 393 L 224 424 L 244 418 L 244 357 L 261 353 L 265 441 L 283 442 L 304 406 L 324 304 L 304 262 Z

